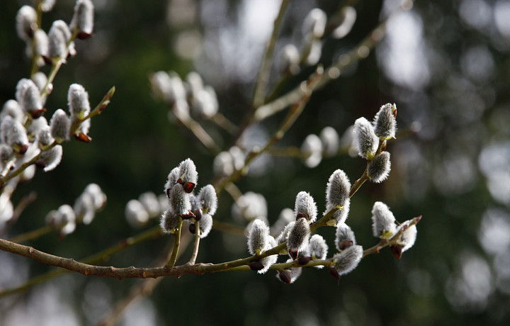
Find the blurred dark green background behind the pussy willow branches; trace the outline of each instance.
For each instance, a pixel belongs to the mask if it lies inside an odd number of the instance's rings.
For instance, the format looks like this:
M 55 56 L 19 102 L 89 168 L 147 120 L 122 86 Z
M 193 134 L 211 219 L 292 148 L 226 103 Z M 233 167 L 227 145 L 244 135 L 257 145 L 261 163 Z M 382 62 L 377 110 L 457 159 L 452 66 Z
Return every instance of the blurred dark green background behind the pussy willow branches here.
M 394 2 L 384 7 L 394 8 Z M 140 232 L 126 223 L 125 203 L 145 191 L 161 193 L 166 175 L 183 159 L 196 162 L 200 185 L 213 181 L 214 157 L 188 130 L 168 120 L 168 108 L 152 95 L 149 74 L 174 70 L 183 77 L 197 71 L 205 84 L 215 87 L 220 111 L 239 123 L 249 108 L 261 62 L 263 30 L 271 30 L 273 18 L 266 16 L 273 17 L 275 11 L 271 1 L 94 3 L 94 38 L 77 41 L 78 54 L 60 70 L 46 107 L 50 113 L 66 108 L 73 82 L 89 91 L 92 106 L 111 86 L 117 91 L 106 111 L 92 120 L 93 142 L 65 143 L 57 169 L 38 171 L 30 183 L 18 186 L 13 203 L 31 190 L 38 199 L 9 232 L 16 235 L 44 225 L 49 210 L 74 203 L 84 187 L 95 182 L 108 196 L 108 205 L 91 225 L 79 225 L 64 239 L 51 234 L 30 242 L 42 251 L 76 259 Z M 12 99 L 18 80 L 30 73 L 25 45 L 15 30 L 22 4 L 26 1 L 1 1 L 0 103 Z M 55 9 L 44 14 L 42 27 L 47 31 L 55 19 L 69 23 L 73 6 L 74 1 L 57 1 Z M 300 47 L 302 20 L 314 6 L 331 16 L 339 5 L 291 1 L 277 52 L 288 42 Z M 327 38 L 320 62 L 329 66 L 370 33 L 389 12 L 382 7 L 381 1 L 359 1 L 352 32 L 342 40 Z M 356 193 L 347 223 L 358 243 L 370 247 L 376 243 L 370 227 L 373 202 L 387 203 L 400 222 L 423 215 L 416 245 L 402 259 L 384 249 L 363 259 L 339 284 L 326 270 L 308 269 L 290 286 L 278 282 L 273 271 L 263 276 L 228 272 L 168 277 L 151 296 L 126 310 L 122 325 L 508 323 L 510 26 L 502 17 L 508 21 L 509 13 L 509 2 L 502 0 L 417 1 L 412 11 L 388 23 L 387 37 L 365 60 L 313 94 L 276 145 L 299 147 L 308 134 L 319 134 L 326 125 L 342 134 L 356 118 L 370 120 L 383 103 L 397 103 L 399 130 L 418 131 L 389 143 L 389 179 L 367 183 Z M 268 26 L 251 23 L 253 17 Z M 289 87 L 312 71 L 302 69 Z M 277 77 L 273 69 L 271 81 Z M 282 118 L 280 113 L 261 128 L 271 135 Z M 228 149 L 226 133 L 208 121 L 204 126 Z M 243 192 L 263 193 L 273 223 L 280 210 L 293 208 L 299 191 L 309 191 L 322 212 L 327 179 L 339 168 L 353 182 L 363 173 L 364 162 L 345 154 L 307 169 L 299 159 L 272 158 L 260 174 L 246 176 L 238 186 Z M 215 219 L 241 225 L 232 220 L 231 205 L 232 199 L 222 193 Z M 151 225 L 157 223 L 152 220 Z M 334 230 L 319 233 L 334 252 Z M 105 264 L 151 266 L 170 243 L 169 237 L 150 240 Z M 182 263 L 189 254 L 188 248 Z M 244 239 L 213 230 L 200 246 L 198 261 L 246 255 Z M 0 253 L 0 270 L 0 286 L 11 288 L 50 268 Z M 0 324 L 94 324 L 139 282 L 67 275 L 1 298 Z

